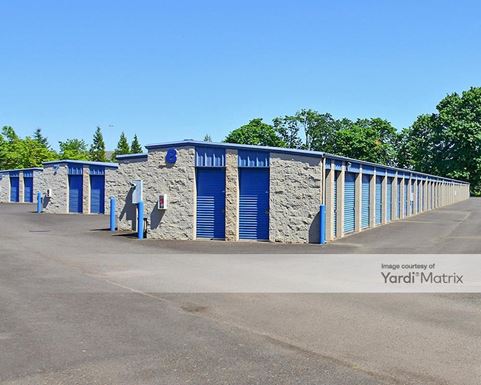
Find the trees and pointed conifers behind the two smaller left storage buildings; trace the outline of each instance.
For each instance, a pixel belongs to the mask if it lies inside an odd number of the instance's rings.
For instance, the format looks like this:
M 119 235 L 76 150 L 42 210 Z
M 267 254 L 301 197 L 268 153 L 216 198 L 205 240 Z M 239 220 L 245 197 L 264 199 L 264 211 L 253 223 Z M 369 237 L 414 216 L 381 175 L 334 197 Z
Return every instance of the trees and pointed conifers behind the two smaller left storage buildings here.
M 102 130 L 97 127 L 90 145 L 84 139 L 66 139 L 59 142 L 55 151 L 40 128 L 32 136 L 21 138 L 10 126 L 4 126 L 0 133 L 0 170 L 39 167 L 43 162 L 58 159 L 90 160 L 97 162 L 115 161 L 117 155 L 142 152 L 137 135 L 129 144 L 124 132 L 120 134 L 117 147 L 108 156 Z

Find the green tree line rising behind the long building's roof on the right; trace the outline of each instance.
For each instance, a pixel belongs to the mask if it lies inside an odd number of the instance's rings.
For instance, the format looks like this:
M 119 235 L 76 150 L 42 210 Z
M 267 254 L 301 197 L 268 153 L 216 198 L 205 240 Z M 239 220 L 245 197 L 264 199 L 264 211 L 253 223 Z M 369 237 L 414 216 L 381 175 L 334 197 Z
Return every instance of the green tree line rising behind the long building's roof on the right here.
M 436 112 L 401 131 L 381 118 L 336 119 L 302 109 L 272 123 L 252 119 L 224 141 L 323 151 L 446 176 L 470 182 L 471 193 L 481 195 L 481 87 L 447 95 Z

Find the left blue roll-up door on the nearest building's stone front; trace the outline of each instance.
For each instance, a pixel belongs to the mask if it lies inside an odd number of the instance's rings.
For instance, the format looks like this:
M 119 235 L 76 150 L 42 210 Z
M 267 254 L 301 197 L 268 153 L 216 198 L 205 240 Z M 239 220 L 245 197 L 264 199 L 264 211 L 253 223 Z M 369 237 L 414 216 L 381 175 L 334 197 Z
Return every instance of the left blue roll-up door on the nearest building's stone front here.
M 225 168 L 197 168 L 197 238 L 225 238 Z

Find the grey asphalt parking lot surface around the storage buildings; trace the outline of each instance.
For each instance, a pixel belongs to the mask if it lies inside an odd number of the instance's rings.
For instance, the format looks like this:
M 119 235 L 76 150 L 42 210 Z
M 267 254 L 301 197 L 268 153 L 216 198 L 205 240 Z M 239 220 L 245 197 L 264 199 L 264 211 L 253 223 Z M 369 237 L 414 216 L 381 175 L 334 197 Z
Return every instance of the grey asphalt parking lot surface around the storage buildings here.
M 172 293 L 162 282 L 166 270 L 192 279 L 182 273 L 196 256 L 202 277 L 254 253 L 273 264 L 481 254 L 479 199 L 324 246 L 138 241 L 106 231 L 107 217 L 33 209 L 0 204 L 1 384 L 479 385 L 479 294 Z

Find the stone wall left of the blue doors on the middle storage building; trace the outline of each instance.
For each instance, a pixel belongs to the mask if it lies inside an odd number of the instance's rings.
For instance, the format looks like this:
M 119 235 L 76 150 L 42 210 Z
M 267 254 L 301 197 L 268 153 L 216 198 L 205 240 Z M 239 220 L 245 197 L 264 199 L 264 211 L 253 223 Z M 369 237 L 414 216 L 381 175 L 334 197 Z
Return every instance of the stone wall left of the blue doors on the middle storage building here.
M 42 194 L 45 196 L 47 189 L 52 189 L 50 198 L 44 197 L 43 207 L 46 213 L 68 213 L 68 169 L 67 165 L 61 164 L 55 170 L 54 166 L 44 168 L 40 179 Z

